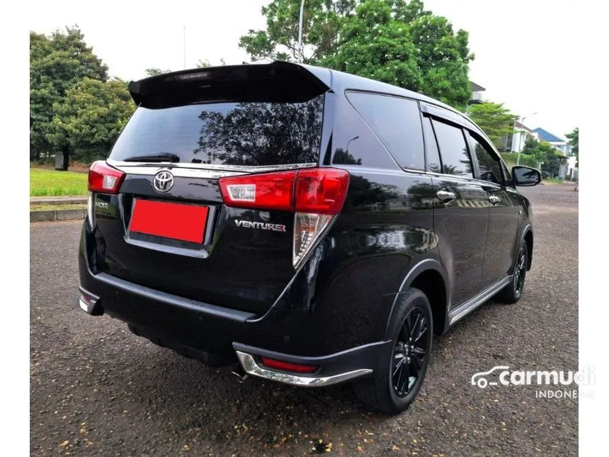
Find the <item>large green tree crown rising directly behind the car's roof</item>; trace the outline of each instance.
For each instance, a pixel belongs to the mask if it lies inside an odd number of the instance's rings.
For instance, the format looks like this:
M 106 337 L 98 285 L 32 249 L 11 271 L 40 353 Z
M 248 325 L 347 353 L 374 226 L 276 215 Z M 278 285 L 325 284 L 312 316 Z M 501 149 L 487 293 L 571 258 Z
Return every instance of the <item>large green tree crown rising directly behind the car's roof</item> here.
M 298 60 L 370 77 L 464 109 L 471 89 L 468 34 L 423 9 L 420 0 L 307 0 L 297 49 L 300 0 L 262 9 L 266 30 L 239 46 L 256 60 Z

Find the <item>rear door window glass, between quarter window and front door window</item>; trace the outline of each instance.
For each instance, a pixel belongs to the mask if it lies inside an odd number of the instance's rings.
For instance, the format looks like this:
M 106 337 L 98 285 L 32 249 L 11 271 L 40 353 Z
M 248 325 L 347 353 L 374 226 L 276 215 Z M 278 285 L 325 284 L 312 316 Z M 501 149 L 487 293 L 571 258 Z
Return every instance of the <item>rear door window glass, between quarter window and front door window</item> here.
M 442 172 L 464 178 L 474 177 L 472 160 L 469 158 L 467 143 L 460 127 L 433 119 L 433 130 L 438 138 Z

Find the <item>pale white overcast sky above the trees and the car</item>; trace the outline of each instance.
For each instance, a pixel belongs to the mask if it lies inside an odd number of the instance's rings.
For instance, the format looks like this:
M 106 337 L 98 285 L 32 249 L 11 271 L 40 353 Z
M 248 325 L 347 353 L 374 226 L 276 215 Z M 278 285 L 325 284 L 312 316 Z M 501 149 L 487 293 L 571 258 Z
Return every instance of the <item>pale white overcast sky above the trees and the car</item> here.
M 184 67 L 184 26 L 186 67 L 199 59 L 248 60 L 237 45 L 239 36 L 264 26 L 260 9 L 265 4 L 268 0 L 56 0 L 36 5 L 28 26 L 50 33 L 77 23 L 110 74 L 138 79 L 149 67 Z M 526 116 L 530 128 L 561 137 L 579 125 L 583 91 L 577 56 L 585 25 L 578 19 L 593 9 L 547 0 L 426 0 L 425 6 L 446 16 L 455 29 L 469 31 L 476 55 L 469 77 L 486 88 L 486 99 Z

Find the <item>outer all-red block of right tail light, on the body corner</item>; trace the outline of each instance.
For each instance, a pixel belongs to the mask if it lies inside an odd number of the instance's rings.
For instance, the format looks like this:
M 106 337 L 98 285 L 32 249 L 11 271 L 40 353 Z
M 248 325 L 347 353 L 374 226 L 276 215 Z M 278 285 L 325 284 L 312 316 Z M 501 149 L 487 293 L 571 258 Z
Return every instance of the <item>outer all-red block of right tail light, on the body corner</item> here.
M 300 213 L 338 214 L 343 208 L 349 173 L 317 168 L 300 170 L 296 181 L 296 210 Z

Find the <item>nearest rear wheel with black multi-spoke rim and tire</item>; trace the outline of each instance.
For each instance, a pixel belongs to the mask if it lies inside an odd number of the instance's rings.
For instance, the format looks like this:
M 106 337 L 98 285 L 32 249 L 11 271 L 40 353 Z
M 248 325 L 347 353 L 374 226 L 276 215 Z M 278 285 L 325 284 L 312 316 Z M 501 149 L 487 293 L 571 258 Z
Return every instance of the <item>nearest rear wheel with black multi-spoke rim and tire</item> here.
M 406 410 L 419 393 L 431 357 L 433 333 L 431 305 L 421 290 L 407 289 L 400 294 L 397 307 L 389 322 L 390 354 L 372 378 L 355 383 L 355 393 L 365 405 L 389 414 Z M 404 344 L 412 339 L 415 344 Z

